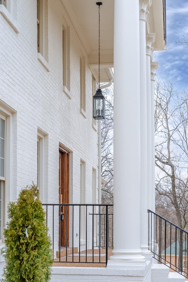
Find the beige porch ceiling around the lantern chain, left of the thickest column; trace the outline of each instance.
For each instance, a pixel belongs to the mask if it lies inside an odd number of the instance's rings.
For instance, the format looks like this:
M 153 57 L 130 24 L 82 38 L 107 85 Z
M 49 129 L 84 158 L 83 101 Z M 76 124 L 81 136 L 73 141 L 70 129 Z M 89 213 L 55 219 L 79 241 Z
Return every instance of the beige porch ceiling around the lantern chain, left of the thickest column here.
M 61 0 L 88 53 L 90 69 L 98 78 L 98 6 L 96 0 Z M 114 0 L 100 6 L 100 81 L 109 82 L 108 68 L 113 68 Z M 106 70 L 105 70 L 106 69 Z

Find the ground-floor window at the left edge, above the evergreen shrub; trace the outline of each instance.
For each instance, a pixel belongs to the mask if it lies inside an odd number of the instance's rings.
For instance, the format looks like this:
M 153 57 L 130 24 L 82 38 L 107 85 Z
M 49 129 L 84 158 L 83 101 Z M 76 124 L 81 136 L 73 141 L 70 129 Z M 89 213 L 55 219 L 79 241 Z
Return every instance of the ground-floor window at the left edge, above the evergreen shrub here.
M 5 226 L 5 140 L 6 119 L 0 115 L 0 243 Z

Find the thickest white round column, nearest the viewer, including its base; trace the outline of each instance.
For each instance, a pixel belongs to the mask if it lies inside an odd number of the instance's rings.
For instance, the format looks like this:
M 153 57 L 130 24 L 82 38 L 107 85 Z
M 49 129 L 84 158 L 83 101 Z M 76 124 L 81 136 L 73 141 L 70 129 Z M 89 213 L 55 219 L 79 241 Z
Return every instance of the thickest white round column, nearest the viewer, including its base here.
M 146 267 L 140 249 L 139 45 L 139 0 L 115 0 L 114 249 L 107 268 Z

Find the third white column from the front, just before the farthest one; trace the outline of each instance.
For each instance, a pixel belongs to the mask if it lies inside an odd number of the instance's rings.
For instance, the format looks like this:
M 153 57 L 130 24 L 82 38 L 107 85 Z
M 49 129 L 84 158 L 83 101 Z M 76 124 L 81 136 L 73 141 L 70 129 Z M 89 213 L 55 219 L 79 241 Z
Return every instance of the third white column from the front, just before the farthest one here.
M 152 43 L 155 34 L 150 33 L 146 38 L 146 73 L 147 73 L 147 208 L 152 210 L 152 113 L 151 113 L 151 61 Z

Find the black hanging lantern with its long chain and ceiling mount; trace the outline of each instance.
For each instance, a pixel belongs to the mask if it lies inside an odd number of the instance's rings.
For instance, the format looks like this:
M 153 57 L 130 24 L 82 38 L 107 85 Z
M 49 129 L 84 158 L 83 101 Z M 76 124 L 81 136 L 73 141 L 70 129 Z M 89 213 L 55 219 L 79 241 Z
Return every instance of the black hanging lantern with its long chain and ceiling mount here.
M 105 97 L 100 89 L 100 5 L 102 2 L 96 2 L 99 6 L 99 86 L 96 94 L 93 96 L 93 118 L 95 120 L 105 119 Z

